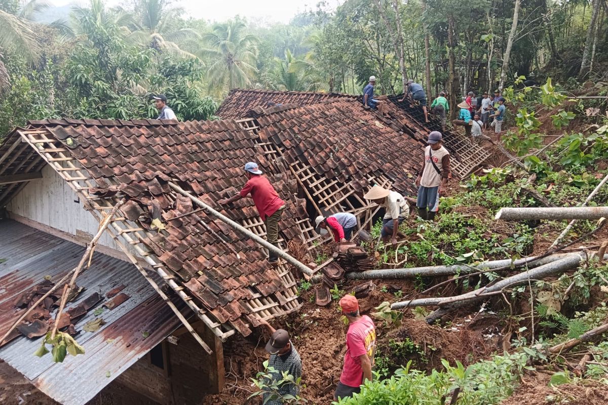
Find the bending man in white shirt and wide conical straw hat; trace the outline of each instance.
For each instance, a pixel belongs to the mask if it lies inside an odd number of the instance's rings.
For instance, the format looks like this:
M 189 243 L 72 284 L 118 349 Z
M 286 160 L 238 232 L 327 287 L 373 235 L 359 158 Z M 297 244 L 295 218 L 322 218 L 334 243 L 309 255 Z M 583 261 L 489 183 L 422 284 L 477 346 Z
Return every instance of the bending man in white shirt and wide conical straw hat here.
M 390 239 L 393 246 L 396 245 L 399 223 L 406 220 L 410 214 L 410 207 L 407 205 L 406 199 L 398 192 L 378 185 L 373 186 L 363 198 L 384 207 L 385 214 L 382 218 L 382 231 L 380 232 L 382 242 L 388 243 Z

